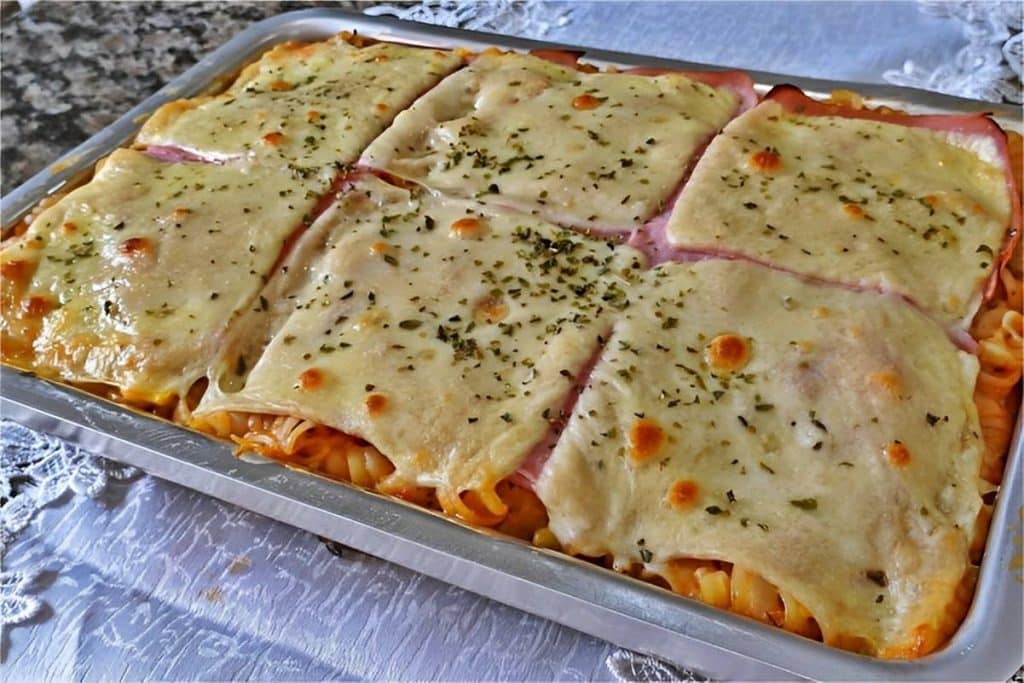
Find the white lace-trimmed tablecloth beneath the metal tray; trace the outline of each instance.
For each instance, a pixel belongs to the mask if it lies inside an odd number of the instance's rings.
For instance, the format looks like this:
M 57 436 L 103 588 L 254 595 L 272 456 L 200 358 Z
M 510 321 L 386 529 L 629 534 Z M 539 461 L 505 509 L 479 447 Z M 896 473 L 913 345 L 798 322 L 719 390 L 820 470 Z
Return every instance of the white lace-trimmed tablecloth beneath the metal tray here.
M 434 2 L 371 11 L 1021 101 L 1019 2 Z M 11 423 L 3 428 L 5 680 L 686 676 Z

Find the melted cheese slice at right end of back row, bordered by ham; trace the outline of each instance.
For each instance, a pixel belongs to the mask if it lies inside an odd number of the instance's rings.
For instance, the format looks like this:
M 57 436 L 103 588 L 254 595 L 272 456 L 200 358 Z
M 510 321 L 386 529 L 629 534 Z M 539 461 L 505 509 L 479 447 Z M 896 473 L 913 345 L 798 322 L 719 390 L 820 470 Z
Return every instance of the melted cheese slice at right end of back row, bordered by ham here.
M 1005 172 L 992 161 L 963 135 L 766 101 L 709 145 L 667 234 L 678 247 L 898 292 L 943 323 L 969 322 L 1010 222 Z

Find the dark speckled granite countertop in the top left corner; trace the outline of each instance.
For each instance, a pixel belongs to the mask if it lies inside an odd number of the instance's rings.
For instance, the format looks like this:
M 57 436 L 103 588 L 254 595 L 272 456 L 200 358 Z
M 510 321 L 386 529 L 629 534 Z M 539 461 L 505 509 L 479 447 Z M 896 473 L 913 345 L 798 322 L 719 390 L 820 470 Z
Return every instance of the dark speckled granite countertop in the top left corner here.
M 43 1 L 5 11 L 0 193 L 6 195 L 255 22 L 310 6 L 369 4 Z

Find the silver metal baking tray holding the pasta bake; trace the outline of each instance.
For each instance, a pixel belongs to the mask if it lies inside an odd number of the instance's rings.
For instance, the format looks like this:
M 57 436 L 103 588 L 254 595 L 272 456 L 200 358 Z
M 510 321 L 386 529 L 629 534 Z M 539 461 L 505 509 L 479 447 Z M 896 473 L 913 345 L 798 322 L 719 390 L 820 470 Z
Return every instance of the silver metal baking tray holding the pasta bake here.
M 240 33 L 0 200 L 4 230 L 40 200 L 83 177 L 98 159 L 128 142 L 161 104 L 204 92 L 279 42 L 316 40 L 344 30 L 436 47 L 561 47 L 579 50 L 583 59 L 599 66 L 721 69 L 342 10 L 285 13 Z M 1019 109 L 1010 105 L 909 88 L 748 73 L 762 92 L 778 83 L 792 83 L 812 95 L 846 88 L 877 103 L 913 112 L 989 112 L 1005 127 L 1021 127 Z M 942 650 L 916 660 L 892 661 L 826 647 L 395 499 L 258 460 L 237 459 L 222 441 L 9 367 L 0 369 L 0 414 L 156 476 L 713 678 L 1006 680 L 1021 665 L 1024 446 L 1019 418 L 967 618 Z

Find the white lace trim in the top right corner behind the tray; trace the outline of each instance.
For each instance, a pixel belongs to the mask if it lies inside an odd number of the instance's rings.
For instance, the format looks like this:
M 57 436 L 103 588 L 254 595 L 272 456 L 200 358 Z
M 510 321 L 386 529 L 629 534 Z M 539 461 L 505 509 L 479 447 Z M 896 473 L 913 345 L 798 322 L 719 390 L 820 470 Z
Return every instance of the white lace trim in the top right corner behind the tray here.
M 922 0 L 921 10 L 962 23 L 968 44 L 952 62 L 934 69 L 909 59 L 902 69 L 883 74 L 888 82 L 990 102 L 1024 102 L 1020 0 Z

